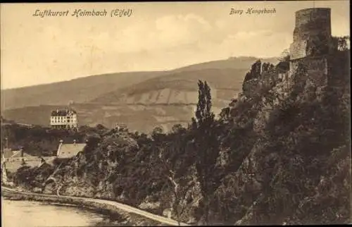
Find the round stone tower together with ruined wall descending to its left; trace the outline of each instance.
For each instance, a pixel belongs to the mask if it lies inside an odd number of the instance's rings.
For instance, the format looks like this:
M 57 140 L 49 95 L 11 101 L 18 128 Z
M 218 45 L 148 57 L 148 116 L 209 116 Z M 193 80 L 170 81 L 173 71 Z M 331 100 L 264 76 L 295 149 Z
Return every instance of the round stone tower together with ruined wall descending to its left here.
M 289 71 L 261 73 L 258 78 L 245 80 L 242 87 L 244 95 L 256 97 L 270 89 L 277 81 L 295 79 L 292 77 L 296 75 L 299 64 L 306 68 L 310 84 L 327 85 L 327 56 L 331 39 L 330 8 L 306 8 L 297 11 L 294 42 L 290 46 Z

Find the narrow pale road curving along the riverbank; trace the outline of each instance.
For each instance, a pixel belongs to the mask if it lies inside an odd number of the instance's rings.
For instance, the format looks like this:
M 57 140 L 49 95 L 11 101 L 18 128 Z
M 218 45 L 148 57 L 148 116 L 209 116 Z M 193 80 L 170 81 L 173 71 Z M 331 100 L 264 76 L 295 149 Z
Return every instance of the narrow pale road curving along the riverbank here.
M 12 192 L 20 192 L 18 190 L 13 190 L 12 188 L 7 188 L 4 186 L 1 186 L 1 190 L 8 190 L 8 191 L 12 191 Z M 138 214 L 140 216 L 144 216 L 147 219 L 152 219 L 154 221 L 158 221 L 170 226 L 178 226 L 177 221 L 173 220 L 173 219 L 168 219 L 164 216 L 159 216 L 156 214 L 151 214 L 147 211 L 144 211 L 142 209 L 137 209 L 135 207 L 131 207 L 129 205 L 126 204 L 122 204 L 120 202 L 115 202 L 115 201 L 109 201 L 109 200 L 100 200 L 100 199 L 92 199 L 92 198 L 85 198 L 85 197 L 74 197 L 74 196 L 66 196 L 66 195 L 46 195 L 46 194 L 42 194 L 42 193 L 34 193 L 34 192 L 20 192 L 23 194 L 27 194 L 27 195 L 41 195 L 42 197 L 64 197 L 64 198 L 68 198 L 68 199 L 80 199 L 80 200 L 84 200 L 87 202 L 96 202 L 96 203 L 100 203 L 100 204 L 109 204 L 113 207 L 115 207 L 116 209 L 121 209 L 123 211 L 129 212 L 129 213 L 133 213 L 133 214 Z M 189 226 L 187 223 L 180 223 L 180 226 Z

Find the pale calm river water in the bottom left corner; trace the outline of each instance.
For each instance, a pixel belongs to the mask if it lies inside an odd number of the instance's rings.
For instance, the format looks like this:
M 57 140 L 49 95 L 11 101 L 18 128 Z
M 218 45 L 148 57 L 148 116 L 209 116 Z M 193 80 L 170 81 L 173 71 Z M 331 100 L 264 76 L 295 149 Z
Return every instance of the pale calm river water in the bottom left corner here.
M 1 226 L 101 226 L 109 217 L 69 204 L 4 200 L 1 197 Z M 110 226 L 110 224 L 108 224 Z

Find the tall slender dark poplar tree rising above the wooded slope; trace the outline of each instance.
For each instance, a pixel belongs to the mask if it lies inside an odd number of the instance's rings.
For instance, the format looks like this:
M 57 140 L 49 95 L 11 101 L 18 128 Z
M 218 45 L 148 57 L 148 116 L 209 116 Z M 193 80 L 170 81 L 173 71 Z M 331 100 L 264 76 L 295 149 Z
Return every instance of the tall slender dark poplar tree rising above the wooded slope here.
M 220 143 L 216 132 L 215 115 L 211 111 L 211 94 L 207 82 L 199 80 L 199 101 L 196 118 L 192 118 L 194 147 L 196 149 L 196 174 L 201 186 L 204 202 L 204 218 L 209 223 L 210 195 L 215 191 L 215 164 L 219 156 Z

